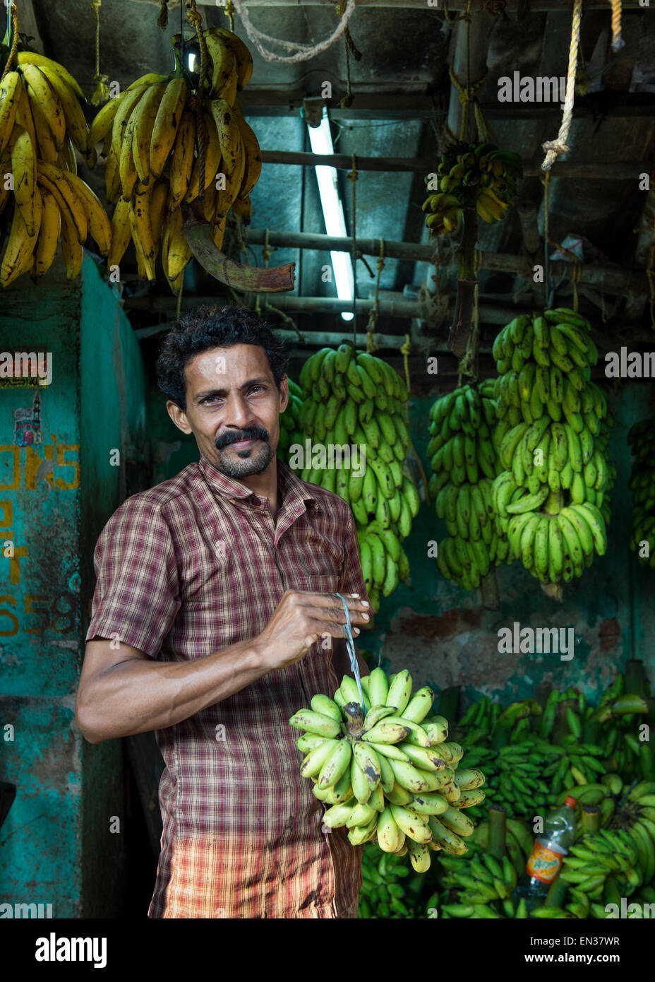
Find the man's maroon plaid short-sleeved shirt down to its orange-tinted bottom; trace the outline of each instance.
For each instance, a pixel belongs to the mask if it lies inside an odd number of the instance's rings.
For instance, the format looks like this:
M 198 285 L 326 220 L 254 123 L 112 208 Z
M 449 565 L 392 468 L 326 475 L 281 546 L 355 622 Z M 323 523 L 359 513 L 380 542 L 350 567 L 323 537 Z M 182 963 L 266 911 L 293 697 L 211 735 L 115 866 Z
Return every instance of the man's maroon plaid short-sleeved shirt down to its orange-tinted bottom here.
M 203 658 L 266 626 L 284 590 L 369 599 L 352 513 L 277 461 L 266 499 L 201 460 L 127 498 L 103 528 L 86 639 Z M 339 642 L 337 642 L 339 643 Z M 342 643 L 342 642 L 340 642 Z M 321 641 L 155 736 L 166 763 L 150 917 L 334 917 L 361 887 L 361 849 L 322 832 L 289 717 L 338 681 Z

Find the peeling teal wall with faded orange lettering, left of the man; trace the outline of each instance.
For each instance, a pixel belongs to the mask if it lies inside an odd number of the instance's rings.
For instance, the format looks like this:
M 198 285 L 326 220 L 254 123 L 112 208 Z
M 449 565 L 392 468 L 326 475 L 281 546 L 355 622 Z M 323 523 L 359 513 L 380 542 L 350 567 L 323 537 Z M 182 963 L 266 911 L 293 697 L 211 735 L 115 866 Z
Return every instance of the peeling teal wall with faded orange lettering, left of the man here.
M 0 829 L 0 902 L 118 916 L 123 837 L 109 821 L 123 819 L 121 742 L 87 743 L 74 714 L 92 550 L 126 491 L 125 458 L 110 467 L 108 448 L 123 452 L 144 428 L 140 353 L 88 254 L 74 283 L 58 256 L 38 286 L 6 289 L 0 339 L 2 352 L 50 352 L 53 370 L 47 386 L 0 385 L 0 780 L 17 786 Z

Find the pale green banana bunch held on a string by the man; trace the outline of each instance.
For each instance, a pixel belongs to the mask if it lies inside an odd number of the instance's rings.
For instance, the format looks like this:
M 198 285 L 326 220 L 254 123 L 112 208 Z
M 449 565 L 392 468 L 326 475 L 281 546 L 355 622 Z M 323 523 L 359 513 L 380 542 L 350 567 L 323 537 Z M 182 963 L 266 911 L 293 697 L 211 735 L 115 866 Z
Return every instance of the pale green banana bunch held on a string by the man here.
M 377 668 L 356 682 L 344 676 L 334 698 L 315 695 L 289 724 L 304 730 L 297 740 L 306 756 L 303 777 L 330 805 L 327 828 L 348 828 L 353 846 L 377 842 L 383 852 L 409 853 L 417 873 L 430 865 L 430 850 L 468 851 L 474 823 L 462 809 L 479 801 L 481 771 L 458 771 L 462 747 L 447 742 L 448 723 L 428 715 L 434 692 L 412 695 L 412 677 L 387 679 Z

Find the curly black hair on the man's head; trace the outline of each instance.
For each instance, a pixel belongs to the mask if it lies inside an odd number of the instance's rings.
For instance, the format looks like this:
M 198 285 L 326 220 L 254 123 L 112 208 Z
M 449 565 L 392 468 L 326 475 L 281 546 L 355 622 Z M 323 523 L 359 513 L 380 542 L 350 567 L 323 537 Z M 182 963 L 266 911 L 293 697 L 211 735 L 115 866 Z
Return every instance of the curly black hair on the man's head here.
M 157 385 L 168 399 L 185 411 L 186 362 L 208 349 L 231 348 L 233 345 L 263 348 L 279 389 L 286 373 L 287 358 L 271 325 L 244 307 L 207 304 L 190 310 L 166 335 L 157 357 Z

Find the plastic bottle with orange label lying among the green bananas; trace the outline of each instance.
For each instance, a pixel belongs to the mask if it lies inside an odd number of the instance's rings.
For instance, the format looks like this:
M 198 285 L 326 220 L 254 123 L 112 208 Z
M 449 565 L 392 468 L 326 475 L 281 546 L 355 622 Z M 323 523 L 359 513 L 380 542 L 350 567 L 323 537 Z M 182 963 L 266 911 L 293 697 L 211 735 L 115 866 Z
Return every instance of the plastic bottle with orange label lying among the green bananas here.
M 576 840 L 576 798 L 570 794 L 564 804 L 548 812 L 544 828 L 535 839 L 519 881 L 517 893 L 526 899 L 528 908 L 543 902 L 550 885 L 562 868 L 562 860 Z

